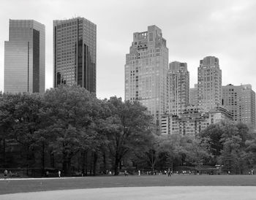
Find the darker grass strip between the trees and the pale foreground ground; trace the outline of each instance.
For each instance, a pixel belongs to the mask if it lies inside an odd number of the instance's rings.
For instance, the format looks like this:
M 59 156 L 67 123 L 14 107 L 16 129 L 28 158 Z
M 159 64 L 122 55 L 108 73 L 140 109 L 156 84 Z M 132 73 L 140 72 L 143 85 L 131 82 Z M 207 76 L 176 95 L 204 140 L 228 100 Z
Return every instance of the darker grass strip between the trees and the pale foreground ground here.
M 256 186 L 252 175 L 152 175 L 0 180 L 0 194 L 85 188 L 144 186 Z M 1 198 L 0 198 L 1 199 Z

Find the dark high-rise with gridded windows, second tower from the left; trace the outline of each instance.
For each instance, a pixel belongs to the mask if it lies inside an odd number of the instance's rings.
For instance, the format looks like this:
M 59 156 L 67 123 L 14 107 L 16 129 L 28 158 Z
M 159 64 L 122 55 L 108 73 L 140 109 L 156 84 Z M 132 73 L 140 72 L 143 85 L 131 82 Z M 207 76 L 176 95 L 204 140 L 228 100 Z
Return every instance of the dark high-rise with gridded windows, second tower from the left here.
M 96 93 L 96 25 L 85 18 L 53 21 L 53 86 Z

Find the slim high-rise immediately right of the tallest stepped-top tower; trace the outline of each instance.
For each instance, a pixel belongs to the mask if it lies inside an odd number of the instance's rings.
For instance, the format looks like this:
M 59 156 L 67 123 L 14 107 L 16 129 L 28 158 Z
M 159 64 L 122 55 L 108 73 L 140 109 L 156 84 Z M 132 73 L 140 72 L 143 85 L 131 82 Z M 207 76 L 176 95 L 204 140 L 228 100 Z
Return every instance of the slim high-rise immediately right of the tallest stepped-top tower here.
M 180 114 L 189 105 L 189 72 L 187 63 L 174 61 L 167 72 L 167 113 Z

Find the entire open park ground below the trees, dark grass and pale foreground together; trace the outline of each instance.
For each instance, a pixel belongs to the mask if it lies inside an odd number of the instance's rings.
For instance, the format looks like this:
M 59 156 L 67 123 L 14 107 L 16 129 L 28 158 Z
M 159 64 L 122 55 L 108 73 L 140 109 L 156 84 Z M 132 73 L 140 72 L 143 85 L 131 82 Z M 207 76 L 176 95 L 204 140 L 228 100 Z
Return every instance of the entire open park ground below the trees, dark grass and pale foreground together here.
M 1 179 L 0 199 L 256 199 L 255 186 L 256 175 Z

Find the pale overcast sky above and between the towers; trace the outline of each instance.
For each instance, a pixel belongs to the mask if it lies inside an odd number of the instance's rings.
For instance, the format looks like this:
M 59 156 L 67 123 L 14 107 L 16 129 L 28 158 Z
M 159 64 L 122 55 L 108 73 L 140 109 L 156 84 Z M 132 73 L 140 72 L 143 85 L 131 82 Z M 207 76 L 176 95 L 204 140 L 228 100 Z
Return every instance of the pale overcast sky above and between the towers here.
M 9 19 L 45 24 L 45 88 L 53 87 L 53 20 L 82 17 L 97 25 L 97 97 L 124 99 L 124 64 L 134 32 L 156 25 L 167 40 L 169 62 L 186 62 L 190 88 L 208 55 L 219 58 L 222 85 L 256 91 L 255 0 L 1 0 L 0 91 Z

